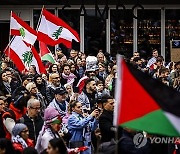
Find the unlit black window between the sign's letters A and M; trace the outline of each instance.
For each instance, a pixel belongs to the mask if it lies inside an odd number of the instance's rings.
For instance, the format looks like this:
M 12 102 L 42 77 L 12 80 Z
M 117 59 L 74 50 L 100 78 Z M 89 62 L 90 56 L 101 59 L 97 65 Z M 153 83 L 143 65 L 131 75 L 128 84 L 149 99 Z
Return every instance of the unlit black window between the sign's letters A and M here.
M 100 10 L 102 13 L 102 10 Z M 95 15 L 94 9 L 86 10 L 87 16 L 84 17 L 84 50 L 85 53 L 97 55 L 102 49 L 106 52 L 106 22 Z M 105 17 L 103 17 L 105 19 Z

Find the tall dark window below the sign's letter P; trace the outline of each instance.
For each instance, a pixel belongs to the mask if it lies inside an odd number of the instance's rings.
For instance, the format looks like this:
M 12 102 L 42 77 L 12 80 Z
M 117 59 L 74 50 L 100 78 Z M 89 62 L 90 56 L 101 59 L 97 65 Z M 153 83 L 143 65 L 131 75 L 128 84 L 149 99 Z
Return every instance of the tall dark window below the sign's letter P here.
M 130 58 L 133 52 L 132 10 L 111 10 L 111 54 L 120 53 Z

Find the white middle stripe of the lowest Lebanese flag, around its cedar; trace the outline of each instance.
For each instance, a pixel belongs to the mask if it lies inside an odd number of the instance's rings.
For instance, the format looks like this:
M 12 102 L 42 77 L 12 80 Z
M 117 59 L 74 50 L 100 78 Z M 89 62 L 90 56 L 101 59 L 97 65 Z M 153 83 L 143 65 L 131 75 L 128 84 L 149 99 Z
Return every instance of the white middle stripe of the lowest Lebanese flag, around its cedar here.
M 10 45 L 10 48 L 19 56 L 19 58 L 22 60 L 23 62 L 23 53 L 26 51 L 31 51 L 31 48 L 28 47 L 23 41 L 22 38 L 20 36 L 16 36 L 13 40 L 13 42 Z M 32 51 L 31 51 L 32 52 Z M 24 62 L 23 62 L 24 63 Z M 37 60 L 34 58 L 32 58 L 32 62 L 31 65 L 35 65 L 37 72 L 40 73 L 39 67 L 38 67 L 38 63 Z M 27 65 L 24 64 L 24 66 L 26 67 L 27 70 L 29 70 L 29 67 Z

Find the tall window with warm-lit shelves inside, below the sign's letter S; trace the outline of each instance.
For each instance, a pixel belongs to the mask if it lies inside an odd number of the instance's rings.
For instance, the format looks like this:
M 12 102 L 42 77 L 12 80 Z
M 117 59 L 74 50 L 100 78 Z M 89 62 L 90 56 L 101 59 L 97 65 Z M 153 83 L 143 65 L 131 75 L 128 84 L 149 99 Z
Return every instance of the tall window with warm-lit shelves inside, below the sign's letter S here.
M 161 52 L 161 10 L 138 10 L 138 51 L 144 58 L 151 57 L 151 51 Z

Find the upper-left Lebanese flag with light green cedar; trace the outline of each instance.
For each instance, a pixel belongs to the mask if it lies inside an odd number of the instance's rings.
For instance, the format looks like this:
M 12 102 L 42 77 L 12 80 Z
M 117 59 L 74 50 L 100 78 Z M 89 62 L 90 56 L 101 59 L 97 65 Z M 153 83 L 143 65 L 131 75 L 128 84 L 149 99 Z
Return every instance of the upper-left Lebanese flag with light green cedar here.
M 13 12 L 11 12 L 10 34 L 21 36 L 23 41 L 31 45 L 37 39 L 37 32 Z

